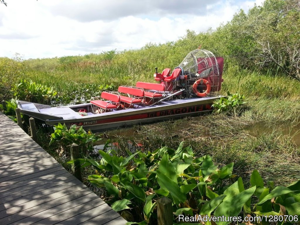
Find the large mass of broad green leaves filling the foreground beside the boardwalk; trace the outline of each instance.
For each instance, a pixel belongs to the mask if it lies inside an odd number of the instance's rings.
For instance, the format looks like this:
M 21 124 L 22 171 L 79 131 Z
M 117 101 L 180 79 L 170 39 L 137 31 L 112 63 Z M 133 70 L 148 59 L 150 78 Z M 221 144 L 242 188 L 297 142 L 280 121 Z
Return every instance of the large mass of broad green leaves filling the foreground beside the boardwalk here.
M 300 180 L 270 190 L 254 170 L 251 187 L 245 189 L 241 177 L 232 183 L 236 177 L 232 174 L 233 163 L 219 168 L 209 155 L 195 157 L 192 148 L 184 148 L 183 143 L 177 150 L 163 147 L 154 152 L 128 152 L 128 157 L 118 156 L 113 149 L 99 150 L 99 154 L 102 157 L 99 162 L 91 158 L 75 161 L 82 167 L 95 168 L 97 175 L 88 176 L 90 183 L 106 188 L 105 200 L 117 211 L 130 207 L 131 212 L 136 212 L 140 219 L 135 222 L 155 223 L 156 201 L 163 196 L 172 199 L 175 215 L 261 215 L 282 213 L 282 207 L 286 207 L 288 215 L 298 213 L 288 204 L 300 204 Z M 259 202 L 254 204 L 252 196 Z M 174 222 L 178 222 L 176 218 Z M 217 225 L 229 223 L 217 222 Z

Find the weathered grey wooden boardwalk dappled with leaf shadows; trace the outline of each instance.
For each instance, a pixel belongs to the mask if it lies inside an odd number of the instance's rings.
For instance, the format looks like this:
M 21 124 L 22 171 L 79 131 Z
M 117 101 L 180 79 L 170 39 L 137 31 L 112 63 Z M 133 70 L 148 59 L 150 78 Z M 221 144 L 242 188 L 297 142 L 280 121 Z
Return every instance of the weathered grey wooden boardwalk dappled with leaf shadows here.
M 124 220 L 0 113 L 0 224 L 105 224 Z

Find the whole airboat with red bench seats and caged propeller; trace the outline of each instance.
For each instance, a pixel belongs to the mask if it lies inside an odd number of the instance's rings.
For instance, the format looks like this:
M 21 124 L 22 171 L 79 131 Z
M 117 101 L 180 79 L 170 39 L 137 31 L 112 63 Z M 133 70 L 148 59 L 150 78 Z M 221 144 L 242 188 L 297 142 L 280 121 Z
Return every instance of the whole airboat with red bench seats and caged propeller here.
M 155 68 L 153 83 L 119 86 L 118 91 L 103 91 L 85 104 L 50 107 L 17 101 L 18 108 L 47 125 L 76 124 L 91 131 L 194 116 L 210 112 L 213 102 L 222 97 L 218 92 L 223 61 L 208 50 L 196 49 L 172 73 L 170 68 L 161 73 Z

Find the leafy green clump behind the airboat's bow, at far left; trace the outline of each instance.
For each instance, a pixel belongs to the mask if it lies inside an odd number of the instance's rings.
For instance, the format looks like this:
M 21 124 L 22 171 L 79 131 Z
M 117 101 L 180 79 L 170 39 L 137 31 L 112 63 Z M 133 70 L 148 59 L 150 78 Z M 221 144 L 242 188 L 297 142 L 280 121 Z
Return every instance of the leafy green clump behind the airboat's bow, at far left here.
M 12 88 L 12 91 L 18 100 L 40 104 L 49 104 L 57 95 L 57 92 L 53 91 L 53 87 L 46 87 L 45 85 L 36 84 L 32 80 L 26 81 L 25 79 Z

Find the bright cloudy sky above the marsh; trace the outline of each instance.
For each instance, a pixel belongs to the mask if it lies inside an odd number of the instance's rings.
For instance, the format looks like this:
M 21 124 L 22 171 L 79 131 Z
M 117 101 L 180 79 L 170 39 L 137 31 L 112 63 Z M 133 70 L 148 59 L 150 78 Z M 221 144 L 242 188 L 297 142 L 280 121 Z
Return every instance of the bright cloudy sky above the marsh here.
M 5 0 L 0 57 L 85 55 L 163 44 L 230 21 L 264 0 Z

